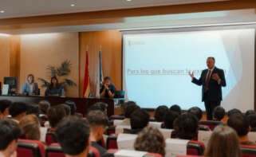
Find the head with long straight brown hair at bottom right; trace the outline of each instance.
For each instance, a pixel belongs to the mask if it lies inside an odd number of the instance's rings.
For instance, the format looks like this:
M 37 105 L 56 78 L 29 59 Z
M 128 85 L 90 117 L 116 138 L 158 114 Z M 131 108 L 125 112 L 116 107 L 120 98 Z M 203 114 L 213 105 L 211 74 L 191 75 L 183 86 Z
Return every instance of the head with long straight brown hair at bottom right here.
M 219 125 L 211 134 L 204 153 L 207 157 L 241 157 L 238 135 L 234 129 Z

